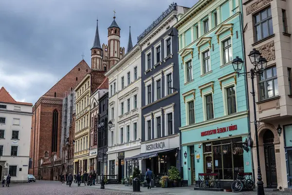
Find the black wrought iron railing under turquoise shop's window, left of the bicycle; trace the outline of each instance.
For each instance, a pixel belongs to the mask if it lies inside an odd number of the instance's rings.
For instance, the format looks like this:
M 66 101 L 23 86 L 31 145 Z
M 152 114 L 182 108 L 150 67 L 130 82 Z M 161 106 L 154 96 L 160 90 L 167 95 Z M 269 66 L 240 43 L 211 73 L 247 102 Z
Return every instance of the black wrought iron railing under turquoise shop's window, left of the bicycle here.
M 219 173 L 199 174 L 200 188 L 221 188 Z

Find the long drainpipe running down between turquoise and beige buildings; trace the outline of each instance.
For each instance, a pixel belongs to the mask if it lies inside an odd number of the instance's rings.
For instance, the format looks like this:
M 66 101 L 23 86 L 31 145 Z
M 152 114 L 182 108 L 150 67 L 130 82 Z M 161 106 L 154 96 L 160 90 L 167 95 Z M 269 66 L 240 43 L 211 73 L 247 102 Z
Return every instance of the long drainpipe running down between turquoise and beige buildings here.
M 243 27 L 243 20 L 242 20 L 242 12 L 239 12 L 239 19 L 240 19 L 240 31 L 242 32 L 242 49 L 243 49 L 243 61 L 245 62 L 244 63 L 244 68 L 245 68 L 245 70 L 247 70 L 247 66 L 246 66 L 246 60 L 245 60 L 245 55 L 246 55 L 246 53 L 245 53 L 245 36 L 244 36 L 244 32 L 243 32 L 243 29 L 242 29 L 242 27 Z M 249 92 L 248 92 L 248 86 L 247 86 L 247 75 L 244 77 L 244 82 L 246 83 L 246 85 L 245 85 L 245 91 L 246 91 L 246 93 L 245 93 L 245 96 L 246 96 L 246 99 L 247 99 L 247 109 L 248 109 L 248 112 L 249 112 L 249 114 L 250 114 L 250 108 L 249 108 L 249 96 L 248 96 L 248 94 L 249 94 Z M 248 133 L 249 133 L 249 135 L 251 135 L 251 123 L 250 123 L 250 115 L 248 115 Z M 255 168 L 254 168 L 254 157 L 253 157 L 253 150 L 251 149 L 251 156 L 252 156 L 252 162 L 251 162 L 251 166 L 252 166 L 252 169 L 253 169 L 253 180 L 255 181 Z

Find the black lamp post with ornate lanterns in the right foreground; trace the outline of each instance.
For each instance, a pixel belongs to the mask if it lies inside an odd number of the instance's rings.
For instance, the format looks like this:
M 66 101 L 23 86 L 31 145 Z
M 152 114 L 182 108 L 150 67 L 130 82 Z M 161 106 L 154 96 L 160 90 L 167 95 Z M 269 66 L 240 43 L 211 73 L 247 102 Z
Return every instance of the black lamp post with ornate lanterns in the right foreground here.
M 255 134 L 256 134 L 256 158 L 257 158 L 257 195 L 265 195 L 264 192 L 264 182 L 262 181 L 261 176 L 261 169 L 260 169 L 260 162 L 259 162 L 259 150 L 258 150 L 258 135 L 257 135 L 257 120 L 256 120 L 256 93 L 255 93 L 255 86 L 254 86 L 254 78 L 258 76 L 262 76 L 264 71 L 266 70 L 267 66 L 267 60 L 263 57 L 261 57 L 261 53 L 257 51 L 256 49 L 253 49 L 253 51 L 250 52 L 248 55 L 254 68 L 252 68 L 249 72 L 243 72 L 240 73 L 243 66 L 243 60 L 236 57 L 236 59 L 233 59 L 232 65 L 237 72 L 237 77 L 240 75 L 245 75 L 247 78 L 252 79 L 252 92 L 253 95 L 253 104 L 254 104 L 254 123 L 255 123 Z

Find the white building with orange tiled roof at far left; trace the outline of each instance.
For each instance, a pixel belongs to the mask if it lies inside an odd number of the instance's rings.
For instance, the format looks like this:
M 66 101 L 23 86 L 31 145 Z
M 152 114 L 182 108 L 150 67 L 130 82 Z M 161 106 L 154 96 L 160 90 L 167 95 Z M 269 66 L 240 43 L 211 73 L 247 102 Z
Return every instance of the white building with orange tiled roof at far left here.
M 12 183 L 27 182 L 32 106 L 0 89 L 0 176 L 10 174 Z

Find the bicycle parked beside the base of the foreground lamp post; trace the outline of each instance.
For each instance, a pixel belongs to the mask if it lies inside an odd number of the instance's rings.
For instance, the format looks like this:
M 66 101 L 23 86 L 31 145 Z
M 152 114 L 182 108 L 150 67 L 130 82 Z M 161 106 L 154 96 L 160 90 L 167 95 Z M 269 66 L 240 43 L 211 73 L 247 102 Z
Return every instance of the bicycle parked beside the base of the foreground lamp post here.
M 239 174 L 237 174 L 236 180 L 231 184 L 232 192 L 235 193 L 242 191 L 243 188 L 252 191 L 254 190 L 254 187 L 255 182 L 253 180 L 246 176 L 239 176 Z

